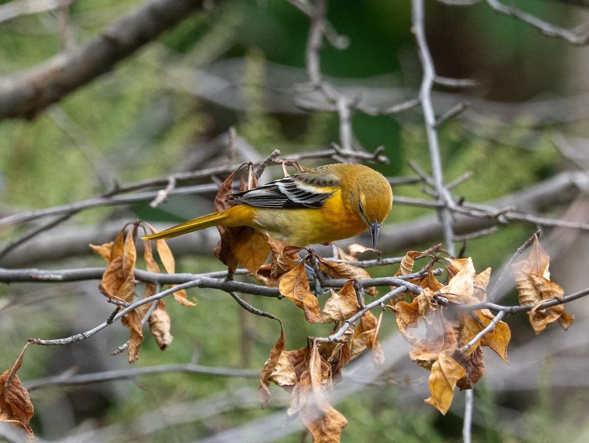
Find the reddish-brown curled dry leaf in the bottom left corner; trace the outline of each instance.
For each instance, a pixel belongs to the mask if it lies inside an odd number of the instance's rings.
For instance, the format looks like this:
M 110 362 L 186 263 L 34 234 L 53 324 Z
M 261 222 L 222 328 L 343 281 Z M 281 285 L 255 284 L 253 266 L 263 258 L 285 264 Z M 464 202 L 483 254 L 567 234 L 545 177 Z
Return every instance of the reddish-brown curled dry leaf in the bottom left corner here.
M 22 358 L 29 344 L 27 343 L 22 348 L 12 368 L 0 375 L 0 421 L 9 422 L 27 429 L 32 440 L 34 435 L 29 426 L 29 421 L 33 416 L 33 405 L 27 389 L 22 386 L 21 380 L 16 375 L 16 371 L 22 365 Z

